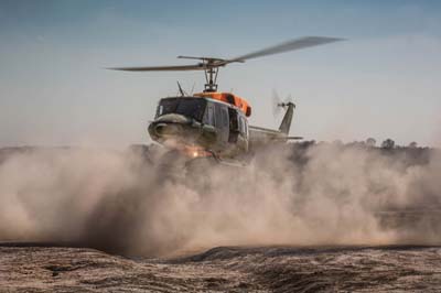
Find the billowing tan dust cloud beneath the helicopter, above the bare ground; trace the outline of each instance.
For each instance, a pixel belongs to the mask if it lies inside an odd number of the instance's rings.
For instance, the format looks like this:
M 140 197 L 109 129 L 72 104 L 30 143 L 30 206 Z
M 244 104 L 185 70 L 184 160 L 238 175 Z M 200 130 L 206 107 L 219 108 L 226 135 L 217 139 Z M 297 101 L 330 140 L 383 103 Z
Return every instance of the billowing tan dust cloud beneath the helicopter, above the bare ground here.
M 169 256 L 217 246 L 441 240 L 435 151 L 415 162 L 375 148 L 287 144 L 258 152 L 246 167 L 200 161 L 185 171 L 152 150 L 3 155 L 0 241 Z

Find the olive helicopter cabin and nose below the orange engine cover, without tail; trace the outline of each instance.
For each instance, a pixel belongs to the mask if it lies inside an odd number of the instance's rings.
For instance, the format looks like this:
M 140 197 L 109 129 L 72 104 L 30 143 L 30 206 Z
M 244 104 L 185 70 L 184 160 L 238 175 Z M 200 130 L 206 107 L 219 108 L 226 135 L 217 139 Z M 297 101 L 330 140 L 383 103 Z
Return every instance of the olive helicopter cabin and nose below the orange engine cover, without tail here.
M 196 95 L 159 101 L 155 119 L 149 126 L 152 140 L 193 158 L 247 153 L 248 121 L 243 109 L 250 107 L 240 109 L 211 95 Z

